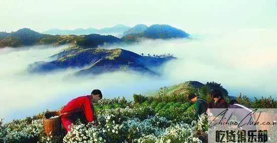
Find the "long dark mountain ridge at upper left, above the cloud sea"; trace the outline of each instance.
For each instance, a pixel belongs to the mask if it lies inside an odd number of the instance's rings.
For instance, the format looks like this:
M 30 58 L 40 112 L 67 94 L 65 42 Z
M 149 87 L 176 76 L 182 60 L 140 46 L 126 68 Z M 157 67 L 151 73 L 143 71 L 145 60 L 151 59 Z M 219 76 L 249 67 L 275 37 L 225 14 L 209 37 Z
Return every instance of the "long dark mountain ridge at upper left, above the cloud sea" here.
M 122 42 L 121 39 L 111 35 L 48 35 L 35 32 L 28 28 L 23 28 L 12 33 L 0 33 L 0 48 L 47 44 L 51 44 L 54 46 L 63 44 L 74 44 L 78 46 L 96 47 L 104 43 L 111 44 L 120 42 Z

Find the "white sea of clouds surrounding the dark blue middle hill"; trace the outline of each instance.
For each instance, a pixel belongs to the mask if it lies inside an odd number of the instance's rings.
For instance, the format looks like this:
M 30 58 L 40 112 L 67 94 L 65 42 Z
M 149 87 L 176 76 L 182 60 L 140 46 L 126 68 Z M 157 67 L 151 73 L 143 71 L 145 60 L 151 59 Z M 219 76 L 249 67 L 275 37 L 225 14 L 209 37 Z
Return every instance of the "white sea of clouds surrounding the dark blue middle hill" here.
M 117 45 L 146 55 L 174 54 L 178 60 L 163 66 L 164 76 L 148 77 L 125 72 L 96 77 L 66 78 L 77 69 L 51 74 L 28 74 L 28 64 L 49 60 L 48 57 L 66 47 L 34 47 L 28 50 L 0 50 L 0 117 L 21 118 L 45 109 L 58 109 L 74 97 L 90 94 L 99 88 L 105 97 L 146 93 L 188 80 L 222 83 L 236 96 L 276 95 L 277 30 L 236 30 L 198 33 L 193 40 L 146 40 L 136 45 Z

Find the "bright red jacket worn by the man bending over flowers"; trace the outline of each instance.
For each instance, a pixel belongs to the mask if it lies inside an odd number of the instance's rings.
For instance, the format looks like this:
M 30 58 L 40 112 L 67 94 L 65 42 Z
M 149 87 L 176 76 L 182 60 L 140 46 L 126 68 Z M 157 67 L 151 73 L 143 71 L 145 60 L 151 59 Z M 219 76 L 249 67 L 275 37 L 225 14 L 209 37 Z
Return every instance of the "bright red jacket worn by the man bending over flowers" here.
M 69 117 L 71 114 L 74 114 L 79 111 L 83 111 L 87 121 L 92 122 L 95 121 L 97 122 L 97 117 L 95 115 L 91 95 L 86 95 L 86 96 L 80 96 L 77 97 L 70 102 L 68 102 L 60 111 L 60 113 L 65 113 L 64 115 L 61 115 L 62 117 Z

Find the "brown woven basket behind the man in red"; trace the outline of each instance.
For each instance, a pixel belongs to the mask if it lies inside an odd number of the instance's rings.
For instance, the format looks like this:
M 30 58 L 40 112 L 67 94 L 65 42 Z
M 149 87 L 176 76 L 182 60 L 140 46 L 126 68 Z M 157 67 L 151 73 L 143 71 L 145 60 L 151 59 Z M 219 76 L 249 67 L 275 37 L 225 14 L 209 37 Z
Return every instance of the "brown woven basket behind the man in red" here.
M 44 114 L 43 127 L 47 136 L 60 134 L 61 120 L 59 114 L 58 111 L 50 111 Z M 51 118 L 53 116 L 59 117 Z

